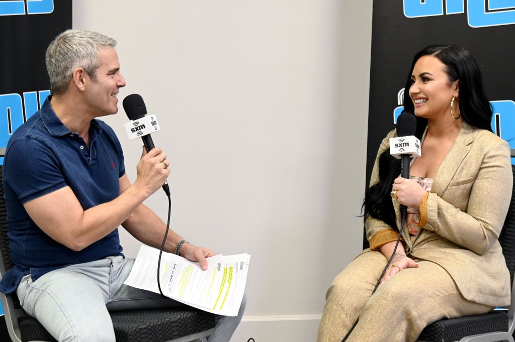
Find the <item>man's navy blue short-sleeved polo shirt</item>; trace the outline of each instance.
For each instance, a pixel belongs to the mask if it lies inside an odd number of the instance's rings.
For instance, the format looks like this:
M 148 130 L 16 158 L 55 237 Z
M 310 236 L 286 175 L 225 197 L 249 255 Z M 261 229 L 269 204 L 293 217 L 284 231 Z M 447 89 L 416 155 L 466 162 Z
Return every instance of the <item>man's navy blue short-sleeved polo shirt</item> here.
M 14 268 L 0 282 L 0 291 L 16 290 L 30 274 L 36 280 L 67 265 L 122 255 L 118 230 L 90 246 L 74 251 L 47 236 L 29 217 L 24 203 L 69 186 L 87 210 L 115 199 L 125 174 L 122 147 L 113 130 L 93 119 L 90 146 L 59 120 L 48 97 L 9 139 L 3 182 L 7 206 L 9 247 Z M 73 226 L 66 227 L 74 229 Z

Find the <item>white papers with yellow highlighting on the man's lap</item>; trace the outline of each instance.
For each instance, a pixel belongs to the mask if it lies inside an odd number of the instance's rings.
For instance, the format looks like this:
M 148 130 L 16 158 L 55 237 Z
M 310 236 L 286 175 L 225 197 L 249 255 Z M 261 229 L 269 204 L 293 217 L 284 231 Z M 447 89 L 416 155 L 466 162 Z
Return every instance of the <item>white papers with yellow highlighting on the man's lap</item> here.
M 159 249 L 142 245 L 124 284 L 159 293 L 157 267 Z M 216 255 L 208 269 L 163 251 L 160 285 L 166 297 L 218 315 L 236 316 L 242 303 L 250 255 Z

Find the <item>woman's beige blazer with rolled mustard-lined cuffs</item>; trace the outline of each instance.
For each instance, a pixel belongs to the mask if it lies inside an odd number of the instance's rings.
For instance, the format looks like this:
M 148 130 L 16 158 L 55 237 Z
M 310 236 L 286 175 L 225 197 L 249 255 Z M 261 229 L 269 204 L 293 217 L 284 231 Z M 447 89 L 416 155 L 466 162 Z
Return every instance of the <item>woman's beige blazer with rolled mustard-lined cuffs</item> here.
M 389 149 L 391 131 L 377 156 Z M 370 184 L 379 181 L 377 158 Z M 510 277 L 499 235 L 511 199 L 513 172 L 508 143 L 464 123 L 443 160 L 427 199 L 427 223 L 416 239 L 403 231 L 411 258 L 442 266 L 468 300 L 499 307 L 509 304 Z M 400 205 L 393 200 L 398 227 Z M 367 237 L 389 227 L 368 218 Z

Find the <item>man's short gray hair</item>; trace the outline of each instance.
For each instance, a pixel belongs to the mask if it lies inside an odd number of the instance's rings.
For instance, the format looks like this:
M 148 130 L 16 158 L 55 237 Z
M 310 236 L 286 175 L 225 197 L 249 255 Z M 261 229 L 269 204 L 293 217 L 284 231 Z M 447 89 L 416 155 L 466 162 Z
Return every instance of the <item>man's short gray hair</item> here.
M 59 34 L 48 45 L 45 56 L 52 93 L 63 92 L 79 67 L 96 81 L 96 70 L 100 67 L 98 51 L 115 46 L 114 39 L 98 32 L 66 30 Z

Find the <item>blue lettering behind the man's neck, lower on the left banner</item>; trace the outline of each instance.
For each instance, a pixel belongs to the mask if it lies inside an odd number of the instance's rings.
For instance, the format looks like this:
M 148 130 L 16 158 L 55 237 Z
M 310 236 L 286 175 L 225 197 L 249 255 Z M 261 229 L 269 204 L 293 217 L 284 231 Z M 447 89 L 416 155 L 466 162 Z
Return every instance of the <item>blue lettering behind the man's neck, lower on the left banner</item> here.
M 0 95 L 0 148 L 7 146 L 12 133 L 35 114 L 50 95 L 49 90 Z M 0 157 L 0 164 L 4 158 Z

